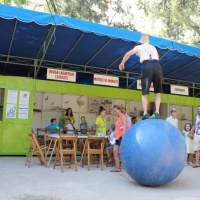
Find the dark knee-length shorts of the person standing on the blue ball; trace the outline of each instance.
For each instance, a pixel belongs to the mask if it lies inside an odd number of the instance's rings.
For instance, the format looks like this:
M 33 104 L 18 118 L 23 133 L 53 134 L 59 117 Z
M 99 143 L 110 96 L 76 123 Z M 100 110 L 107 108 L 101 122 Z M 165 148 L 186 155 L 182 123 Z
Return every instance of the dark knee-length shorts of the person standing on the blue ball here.
M 143 63 L 142 94 L 149 94 L 149 88 L 153 82 L 154 93 L 162 93 L 162 68 L 158 60 L 147 60 Z

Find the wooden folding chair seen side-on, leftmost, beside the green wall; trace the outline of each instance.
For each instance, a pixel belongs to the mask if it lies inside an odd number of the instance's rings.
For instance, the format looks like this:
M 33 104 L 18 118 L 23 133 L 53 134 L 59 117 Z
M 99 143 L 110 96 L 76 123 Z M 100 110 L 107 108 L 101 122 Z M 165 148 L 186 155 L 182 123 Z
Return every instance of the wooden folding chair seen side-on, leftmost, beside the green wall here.
M 30 148 L 29 148 L 28 156 L 26 158 L 25 166 L 28 165 L 28 167 L 30 168 L 31 162 L 32 162 L 32 157 L 33 157 L 33 154 L 35 154 L 35 153 L 36 153 L 38 159 L 40 160 L 41 165 L 47 166 L 45 157 L 46 157 L 46 149 L 48 147 L 46 145 L 41 146 L 38 143 L 38 140 L 34 133 L 28 134 L 28 137 L 30 140 Z M 45 152 L 45 156 L 44 156 L 43 152 Z

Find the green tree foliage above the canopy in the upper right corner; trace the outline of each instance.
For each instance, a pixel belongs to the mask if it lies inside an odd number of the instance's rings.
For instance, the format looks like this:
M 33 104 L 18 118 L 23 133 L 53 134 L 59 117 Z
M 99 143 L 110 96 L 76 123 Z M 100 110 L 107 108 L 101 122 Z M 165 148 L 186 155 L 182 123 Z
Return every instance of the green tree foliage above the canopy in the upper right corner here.
M 200 1 L 138 0 L 147 18 L 160 20 L 158 36 L 200 46 Z

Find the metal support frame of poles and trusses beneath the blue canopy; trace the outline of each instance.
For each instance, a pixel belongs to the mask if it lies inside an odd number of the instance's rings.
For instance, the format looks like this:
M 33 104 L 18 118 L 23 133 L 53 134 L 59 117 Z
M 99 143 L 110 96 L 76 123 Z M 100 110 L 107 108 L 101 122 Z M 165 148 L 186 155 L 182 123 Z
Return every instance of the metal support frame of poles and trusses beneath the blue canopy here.
M 64 56 L 64 58 L 62 59 L 61 62 L 45 60 L 45 56 L 46 56 L 46 53 L 48 51 L 48 48 L 49 48 L 49 46 L 52 42 L 53 36 L 55 36 L 57 25 L 50 25 L 50 28 L 49 28 L 49 30 L 46 34 L 46 37 L 45 37 L 45 39 L 44 39 L 44 41 L 43 41 L 43 43 L 42 43 L 42 45 L 41 45 L 41 47 L 40 47 L 40 49 L 37 53 L 37 56 L 35 58 L 25 58 L 25 57 L 19 57 L 19 56 L 12 56 L 12 55 L 10 55 L 10 53 L 11 53 L 15 33 L 16 33 L 16 30 L 17 30 L 17 25 L 18 25 L 18 20 L 16 19 L 7 55 L 0 54 L 0 63 L 5 64 L 4 69 L 3 69 L 4 74 L 6 73 L 6 68 L 7 68 L 8 64 L 17 65 L 19 67 L 20 66 L 29 67 L 30 70 L 29 70 L 27 76 L 28 77 L 32 76 L 34 79 L 37 78 L 37 75 L 38 75 L 39 70 L 41 68 L 57 68 L 57 69 L 63 69 L 63 70 L 69 70 L 70 69 L 70 70 L 74 70 L 74 71 L 86 73 L 86 74 L 99 73 L 99 74 L 114 75 L 114 76 L 117 76 L 119 78 L 126 79 L 126 88 L 131 88 L 135 84 L 135 82 L 138 79 L 141 78 L 140 73 L 132 72 L 132 70 L 135 69 L 137 66 L 141 65 L 141 63 L 137 63 L 136 65 L 131 67 L 128 71 L 119 71 L 119 70 L 110 69 L 113 64 L 115 64 L 117 61 L 119 61 L 119 59 L 121 59 L 125 55 L 125 53 L 118 56 L 111 64 L 109 64 L 105 68 L 100 68 L 100 67 L 88 65 L 111 42 L 112 38 L 109 38 L 104 44 L 102 44 L 102 46 L 91 56 L 91 58 L 89 58 L 86 61 L 85 64 L 77 65 L 77 64 L 65 62 L 67 57 L 72 53 L 72 51 L 79 44 L 79 42 L 81 41 L 81 39 L 85 35 L 85 32 L 82 32 L 82 34 L 79 36 L 79 38 L 76 40 L 76 42 L 70 48 L 70 50 L 66 53 L 66 55 Z M 133 49 L 136 45 L 137 45 L 137 43 L 134 43 L 134 45 L 132 45 L 132 47 L 129 48 L 129 50 Z M 158 52 L 163 50 L 161 48 L 157 48 L 157 49 L 158 49 Z M 165 57 L 169 52 L 170 52 L 170 50 L 166 49 L 166 52 L 161 56 L 160 59 Z M 182 55 L 181 53 L 178 53 L 178 55 L 174 56 L 174 58 L 172 58 L 171 60 L 163 63 L 161 66 L 164 67 L 166 64 L 169 64 L 170 62 L 172 62 L 174 59 L 178 58 L 181 55 Z M 41 58 L 39 58 L 39 57 L 41 57 Z M 172 73 L 175 73 L 175 72 L 181 70 L 182 68 L 192 64 L 193 62 L 196 62 L 199 59 L 200 58 L 195 58 L 192 61 L 190 61 L 189 63 L 185 64 L 184 66 L 181 66 L 181 67 L 177 68 L 176 70 L 170 71 L 165 76 L 168 76 Z M 200 70 L 197 69 L 194 72 L 191 72 L 191 73 L 189 73 L 189 74 L 187 74 L 187 75 L 185 75 L 181 78 L 183 79 L 183 78 L 190 76 L 191 74 L 197 73 L 199 71 Z M 132 83 L 129 84 L 130 80 L 132 80 Z M 193 89 L 193 96 L 199 96 L 200 95 L 200 92 L 195 94 L 195 91 L 194 91 L 195 89 L 200 90 L 200 83 L 197 83 L 197 82 L 189 82 L 189 81 L 184 81 L 184 80 L 163 78 L 163 84 L 176 84 L 176 85 L 187 86 L 187 87 Z

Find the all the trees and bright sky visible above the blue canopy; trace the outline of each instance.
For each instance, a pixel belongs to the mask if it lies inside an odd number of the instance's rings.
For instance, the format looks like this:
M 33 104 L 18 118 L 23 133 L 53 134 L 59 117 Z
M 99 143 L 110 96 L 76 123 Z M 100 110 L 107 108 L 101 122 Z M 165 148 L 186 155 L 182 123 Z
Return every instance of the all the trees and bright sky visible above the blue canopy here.
M 141 27 L 145 27 L 145 23 L 152 24 L 146 33 L 200 47 L 200 0 L 130 0 L 130 4 L 125 4 L 128 2 L 125 0 L 46 2 L 51 13 L 129 30 L 136 29 L 134 11 L 139 10 L 144 13 L 140 19 L 144 21 Z M 23 7 L 28 0 L 0 0 L 0 3 Z

